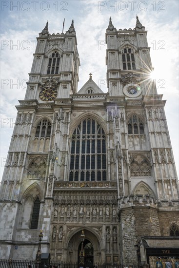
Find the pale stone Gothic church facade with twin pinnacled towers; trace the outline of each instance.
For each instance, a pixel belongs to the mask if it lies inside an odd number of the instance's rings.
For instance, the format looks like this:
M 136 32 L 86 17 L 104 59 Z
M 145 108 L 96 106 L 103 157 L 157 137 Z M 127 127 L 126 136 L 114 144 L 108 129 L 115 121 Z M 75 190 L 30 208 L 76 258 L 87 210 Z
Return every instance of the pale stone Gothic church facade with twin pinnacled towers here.
M 177 259 L 179 184 L 146 35 L 138 17 L 133 30 L 110 19 L 103 93 L 92 74 L 78 91 L 73 21 L 39 34 L 1 182 L 1 259 L 35 259 L 40 230 L 53 260 L 79 262 L 82 230 L 86 265 Z

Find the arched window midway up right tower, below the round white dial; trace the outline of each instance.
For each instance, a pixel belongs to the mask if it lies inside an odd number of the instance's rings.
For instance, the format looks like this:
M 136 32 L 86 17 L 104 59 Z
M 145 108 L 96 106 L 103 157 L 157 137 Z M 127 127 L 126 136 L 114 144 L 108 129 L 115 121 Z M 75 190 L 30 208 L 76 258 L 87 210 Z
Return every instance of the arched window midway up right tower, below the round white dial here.
M 132 115 L 128 120 L 128 134 L 144 134 L 143 122 L 137 115 Z

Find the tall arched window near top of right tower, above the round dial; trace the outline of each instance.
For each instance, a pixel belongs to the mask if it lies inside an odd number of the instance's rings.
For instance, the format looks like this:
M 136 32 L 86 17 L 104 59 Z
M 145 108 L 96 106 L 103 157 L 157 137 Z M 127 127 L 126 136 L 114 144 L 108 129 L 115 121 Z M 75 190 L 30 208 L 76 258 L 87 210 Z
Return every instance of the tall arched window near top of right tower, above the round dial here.
M 136 70 L 134 52 L 131 48 L 124 48 L 122 51 L 123 70 Z

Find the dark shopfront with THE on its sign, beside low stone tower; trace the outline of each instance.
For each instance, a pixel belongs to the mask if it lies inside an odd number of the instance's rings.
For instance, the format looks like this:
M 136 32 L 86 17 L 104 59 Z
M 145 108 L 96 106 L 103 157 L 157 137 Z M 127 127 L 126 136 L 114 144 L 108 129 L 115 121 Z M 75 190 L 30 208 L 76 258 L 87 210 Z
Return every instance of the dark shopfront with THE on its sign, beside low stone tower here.
M 145 248 L 150 268 L 179 268 L 179 249 Z

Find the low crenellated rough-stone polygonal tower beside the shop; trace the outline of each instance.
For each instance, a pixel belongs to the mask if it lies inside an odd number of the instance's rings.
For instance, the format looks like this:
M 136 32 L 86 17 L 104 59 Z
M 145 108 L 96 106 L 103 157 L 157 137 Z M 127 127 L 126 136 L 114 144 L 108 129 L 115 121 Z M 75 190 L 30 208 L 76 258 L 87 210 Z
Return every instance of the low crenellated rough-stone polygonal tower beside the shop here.
M 137 261 L 135 245 L 141 235 L 160 236 L 158 206 L 154 198 L 129 195 L 119 200 L 119 221 L 121 231 L 120 247 L 122 261 Z

